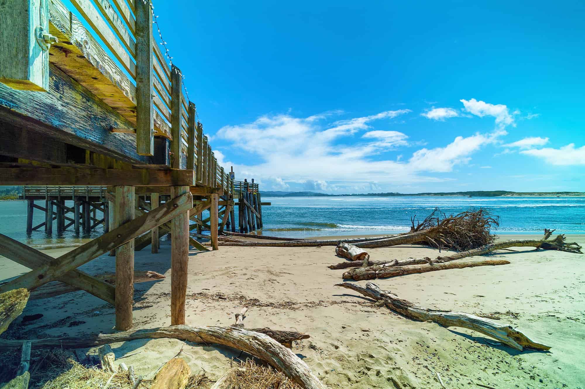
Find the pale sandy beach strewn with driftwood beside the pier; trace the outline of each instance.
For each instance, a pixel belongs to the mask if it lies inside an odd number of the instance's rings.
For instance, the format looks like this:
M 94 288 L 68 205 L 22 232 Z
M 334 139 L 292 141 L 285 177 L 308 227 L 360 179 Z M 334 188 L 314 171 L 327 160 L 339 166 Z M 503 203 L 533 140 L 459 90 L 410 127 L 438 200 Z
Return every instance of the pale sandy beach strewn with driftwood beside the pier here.
M 522 235 L 522 238 L 541 238 Z M 331 237 L 328 237 L 331 238 Z M 345 237 L 347 238 L 347 237 Z M 518 238 L 505 235 L 504 239 Z M 585 244 L 585 235 L 568 235 Z M 69 248 L 45 252 L 59 256 Z M 517 327 L 550 352 L 518 352 L 479 333 L 415 322 L 356 293 L 335 287 L 344 270 L 333 246 L 316 248 L 221 247 L 190 252 L 187 324 L 233 324 L 233 315 L 249 307 L 246 327 L 289 329 L 311 335 L 293 350 L 331 388 L 577 388 L 585 387 L 585 267 L 583 255 L 514 248 L 490 258 L 510 265 L 445 270 L 375 280 L 382 289 L 424 307 L 464 311 Z M 371 259 L 436 256 L 417 246 L 371 249 Z M 1 257 L 0 257 L 1 258 Z M 80 269 L 112 272 L 115 257 L 101 256 Z M 170 325 L 170 242 L 158 254 L 136 252 L 136 270 L 166 275 L 135 284 L 135 328 Z M 3 279 L 27 269 L 0 259 Z M 359 282 L 365 284 L 366 282 Z M 3 337 L 83 336 L 112 332 L 113 307 L 83 291 L 30 301 Z M 214 345 L 154 339 L 112 345 L 116 358 L 148 377 L 180 352 L 193 372 L 217 379 L 239 357 Z M 181 352 L 182 350 L 182 352 Z M 94 350 L 80 350 L 78 355 Z M 243 356 L 240 356 L 243 357 Z

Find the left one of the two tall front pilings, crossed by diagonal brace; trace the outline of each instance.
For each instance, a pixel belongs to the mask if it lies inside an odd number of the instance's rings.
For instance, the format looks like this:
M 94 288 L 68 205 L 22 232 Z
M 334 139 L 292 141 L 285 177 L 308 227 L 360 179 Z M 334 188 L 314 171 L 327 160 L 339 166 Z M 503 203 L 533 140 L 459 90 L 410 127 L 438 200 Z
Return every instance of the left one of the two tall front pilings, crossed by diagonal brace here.
M 116 214 L 119 225 L 134 218 L 134 187 L 116 186 Z M 134 239 L 116 248 L 116 329 L 132 327 L 134 296 Z

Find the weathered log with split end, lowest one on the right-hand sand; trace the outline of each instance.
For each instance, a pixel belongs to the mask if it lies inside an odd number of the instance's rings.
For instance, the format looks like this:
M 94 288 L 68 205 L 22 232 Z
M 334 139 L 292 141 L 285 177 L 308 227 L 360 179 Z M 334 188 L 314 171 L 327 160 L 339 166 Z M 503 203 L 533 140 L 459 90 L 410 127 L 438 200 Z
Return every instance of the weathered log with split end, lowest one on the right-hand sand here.
M 520 351 L 524 350 L 524 348 L 534 350 L 550 349 L 549 346 L 531 341 L 526 335 L 522 334 L 522 332 L 512 328 L 511 325 L 500 325 L 490 319 L 470 315 L 465 312 L 438 311 L 417 307 L 410 301 L 402 300 L 390 291 L 381 290 L 376 284 L 371 282 L 367 283 L 365 288 L 355 283 L 348 282 L 336 284 L 336 286 L 355 290 L 364 296 L 373 298 L 377 301 L 384 301 L 384 305 L 390 310 L 417 321 L 431 320 L 443 327 L 469 328 L 473 331 L 481 332 L 481 334 L 497 339 L 499 342 Z

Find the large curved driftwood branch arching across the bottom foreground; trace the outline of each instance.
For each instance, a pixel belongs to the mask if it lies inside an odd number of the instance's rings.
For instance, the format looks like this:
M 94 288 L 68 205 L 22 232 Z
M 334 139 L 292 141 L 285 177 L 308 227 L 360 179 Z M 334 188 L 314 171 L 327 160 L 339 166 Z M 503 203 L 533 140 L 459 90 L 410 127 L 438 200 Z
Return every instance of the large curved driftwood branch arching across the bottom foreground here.
M 175 325 L 137 331 L 118 332 L 116 334 L 97 334 L 87 338 L 65 337 L 46 338 L 32 341 L 35 348 L 84 348 L 104 345 L 106 343 L 128 342 L 135 339 L 173 338 L 189 342 L 215 343 L 242 350 L 274 367 L 291 378 L 292 381 L 306 389 L 325 389 L 307 364 L 291 350 L 270 338 L 268 335 L 248 329 L 235 327 L 190 327 Z M 0 350 L 19 348 L 23 341 L 0 339 Z

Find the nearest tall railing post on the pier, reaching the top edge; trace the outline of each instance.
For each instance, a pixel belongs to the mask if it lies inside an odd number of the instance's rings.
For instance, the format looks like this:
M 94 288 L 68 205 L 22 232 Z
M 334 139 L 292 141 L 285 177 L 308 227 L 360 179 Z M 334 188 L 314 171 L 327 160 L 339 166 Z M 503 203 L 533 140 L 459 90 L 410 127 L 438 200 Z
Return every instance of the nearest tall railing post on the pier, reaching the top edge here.
M 140 155 L 153 155 L 152 68 L 154 60 L 152 46 L 154 39 L 149 2 L 135 2 L 134 15 L 136 16 L 136 152 Z

